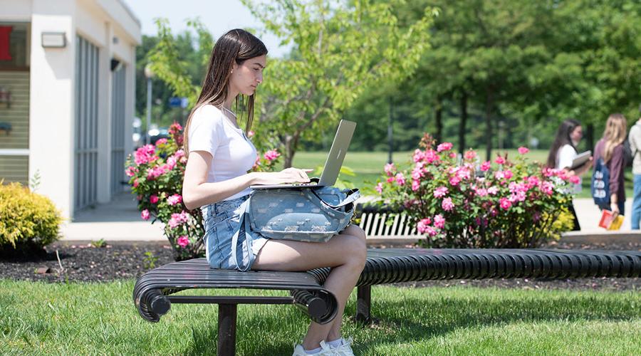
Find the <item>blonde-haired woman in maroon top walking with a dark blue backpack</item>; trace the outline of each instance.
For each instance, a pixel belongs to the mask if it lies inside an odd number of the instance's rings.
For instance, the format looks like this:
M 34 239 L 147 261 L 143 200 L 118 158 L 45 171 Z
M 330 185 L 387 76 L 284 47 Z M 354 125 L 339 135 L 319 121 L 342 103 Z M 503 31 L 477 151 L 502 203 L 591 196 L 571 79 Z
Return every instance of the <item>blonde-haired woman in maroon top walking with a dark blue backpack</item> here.
M 605 122 L 603 137 L 594 147 L 594 162 L 603 159 L 610 172 L 610 204 L 599 205 L 601 210 L 610 210 L 615 215 L 625 214 L 625 188 L 623 187 L 623 142 L 627 131 L 627 120 L 622 114 L 612 114 Z

